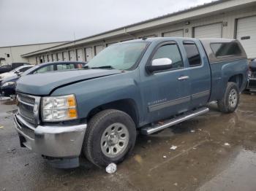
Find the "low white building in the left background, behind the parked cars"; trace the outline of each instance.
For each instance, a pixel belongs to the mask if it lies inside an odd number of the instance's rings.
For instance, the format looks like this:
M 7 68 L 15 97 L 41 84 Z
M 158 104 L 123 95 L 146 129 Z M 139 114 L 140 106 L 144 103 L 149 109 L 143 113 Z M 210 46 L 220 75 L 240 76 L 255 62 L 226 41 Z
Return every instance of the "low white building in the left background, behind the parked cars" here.
M 23 55 L 27 52 L 33 52 L 37 50 L 42 50 L 44 48 L 53 47 L 63 43 L 64 42 L 50 42 L 41 44 L 25 44 L 10 47 L 0 47 L 0 65 L 15 62 L 36 64 L 33 59 L 31 60 L 26 57 L 21 57 L 20 55 Z

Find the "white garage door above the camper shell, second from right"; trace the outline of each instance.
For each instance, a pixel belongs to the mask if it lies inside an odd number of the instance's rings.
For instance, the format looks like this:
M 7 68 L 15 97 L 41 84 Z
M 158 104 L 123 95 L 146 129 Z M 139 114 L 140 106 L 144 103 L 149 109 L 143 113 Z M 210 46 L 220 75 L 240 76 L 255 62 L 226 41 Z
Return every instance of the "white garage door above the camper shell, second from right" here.
M 222 38 L 222 23 L 197 26 L 194 29 L 195 38 Z

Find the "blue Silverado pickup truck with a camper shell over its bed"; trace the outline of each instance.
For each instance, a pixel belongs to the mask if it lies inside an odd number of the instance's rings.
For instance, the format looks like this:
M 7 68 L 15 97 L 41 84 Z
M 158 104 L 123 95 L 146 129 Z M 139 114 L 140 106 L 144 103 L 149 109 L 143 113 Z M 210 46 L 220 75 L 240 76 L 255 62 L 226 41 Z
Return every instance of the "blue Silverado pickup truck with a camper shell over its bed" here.
M 208 112 L 234 112 L 248 61 L 235 39 L 159 37 L 113 44 L 83 70 L 28 75 L 17 83 L 21 147 L 60 168 L 79 157 L 105 167 L 149 135 Z

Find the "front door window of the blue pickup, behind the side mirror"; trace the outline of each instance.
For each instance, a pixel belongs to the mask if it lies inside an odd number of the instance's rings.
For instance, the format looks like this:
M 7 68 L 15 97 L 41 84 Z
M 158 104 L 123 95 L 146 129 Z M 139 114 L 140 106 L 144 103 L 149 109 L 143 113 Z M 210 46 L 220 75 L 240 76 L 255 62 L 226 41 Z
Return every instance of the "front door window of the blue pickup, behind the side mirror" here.
M 157 52 L 155 52 L 152 61 L 157 58 L 170 58 L 173 63 L 173 69 L 184 67 L 177 44 L 166 44 L 159 47 Z

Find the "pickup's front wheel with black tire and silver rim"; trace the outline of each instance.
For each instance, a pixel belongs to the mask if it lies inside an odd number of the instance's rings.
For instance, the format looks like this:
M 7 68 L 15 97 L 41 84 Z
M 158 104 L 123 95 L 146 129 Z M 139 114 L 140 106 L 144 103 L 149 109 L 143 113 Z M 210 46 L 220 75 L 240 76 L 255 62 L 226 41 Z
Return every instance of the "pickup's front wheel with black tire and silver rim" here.
M 106 109 L 95 114 L 89 121 L 83 154 L 99 167 L 121 163 L 135 146 L 136 136 L 135 123 L 128 114 L 116 109 Z

